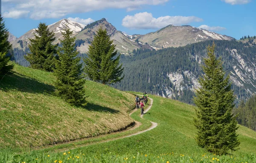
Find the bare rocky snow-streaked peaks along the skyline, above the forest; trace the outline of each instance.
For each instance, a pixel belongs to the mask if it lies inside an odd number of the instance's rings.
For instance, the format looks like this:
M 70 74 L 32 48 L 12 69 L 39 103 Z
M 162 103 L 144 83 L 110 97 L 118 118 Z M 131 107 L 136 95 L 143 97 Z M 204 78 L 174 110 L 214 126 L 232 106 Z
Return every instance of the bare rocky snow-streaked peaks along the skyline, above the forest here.
M 71 20 L 62 19 L 48 26 L 50 31 L 54 31 L 56 40 L 62 39 L 61 31 L 68 26 L 73 30 L 73 36 L 78 40 L 77 49 L 80 53 L 86 53 L 88 46 L 93 40 L 96 31 L 102 27 L 111 36 L 111 40 L 116 45 L 116 49 L 122 54 L 131 54 L 133 49 L 162 49 L 167 47 L 186 46 L 187 44 L 197 43 L 204 40 L 233 40 L 233 37 L 217 34 L 215 32 L 198 29 L 192 26 L 173 26 L 169 25 L 163 29 L 145 35 L 128 35 L 118 31 L 105 18 L 90 23 L 87 26 Z M 31 29 L 21 37 L 11 41 L 13 48 L 24 50 L 29 44 L 29 38 L 34 38 L 35 29 Z

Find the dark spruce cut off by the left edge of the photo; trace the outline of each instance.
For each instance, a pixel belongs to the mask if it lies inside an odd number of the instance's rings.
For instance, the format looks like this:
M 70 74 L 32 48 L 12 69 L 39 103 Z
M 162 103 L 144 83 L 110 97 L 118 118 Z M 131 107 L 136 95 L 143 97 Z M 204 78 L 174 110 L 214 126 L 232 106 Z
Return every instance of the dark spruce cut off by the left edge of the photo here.
M 9 32 L 5 27 L 3 17 L 0 15 L 0 74 L 8 72 L 13 67 L 13 65 L 8 65 L 10 56 L 6 55 L 12 48 L 12 45 L 8 41 L 8 37 Z

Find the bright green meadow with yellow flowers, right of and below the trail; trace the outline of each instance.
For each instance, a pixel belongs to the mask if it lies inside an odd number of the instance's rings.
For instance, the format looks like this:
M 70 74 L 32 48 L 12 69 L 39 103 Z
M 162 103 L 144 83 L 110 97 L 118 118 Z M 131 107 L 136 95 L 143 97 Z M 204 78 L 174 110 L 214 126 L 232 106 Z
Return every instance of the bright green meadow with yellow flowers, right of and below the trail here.
M 148 132 L 79 147 L 61 152 L 34 151 L 15 157 L 3 154 L 1 160 L 20 162 L 111 162 L 111 163 L 255 163 L 256 132 L 239 126 L 239 150 L 230 155 L 217 156 L 201 149 L 195 142 L 194 106 L 179 101 L 151 96 L 154 99 L 145 120 L 157 122 L 158 126 Z M 139 112 L 134 113 L 137 117 Z M 70 147 L 72 148 L 72 147 Z M 56 150 L 56 149 L 55 149 Z

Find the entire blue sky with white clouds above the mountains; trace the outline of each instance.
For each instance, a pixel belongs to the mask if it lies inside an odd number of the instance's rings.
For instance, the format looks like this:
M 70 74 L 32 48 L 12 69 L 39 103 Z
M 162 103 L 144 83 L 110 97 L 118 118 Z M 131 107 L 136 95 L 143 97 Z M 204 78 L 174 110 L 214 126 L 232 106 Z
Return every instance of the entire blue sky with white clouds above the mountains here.
M 146 34 L 190 25 L 240 39 L 256 35 L 255 0 L 2 0 L 6 27 L 17 37 L 38 23 L 106 18 L 119 31 Z

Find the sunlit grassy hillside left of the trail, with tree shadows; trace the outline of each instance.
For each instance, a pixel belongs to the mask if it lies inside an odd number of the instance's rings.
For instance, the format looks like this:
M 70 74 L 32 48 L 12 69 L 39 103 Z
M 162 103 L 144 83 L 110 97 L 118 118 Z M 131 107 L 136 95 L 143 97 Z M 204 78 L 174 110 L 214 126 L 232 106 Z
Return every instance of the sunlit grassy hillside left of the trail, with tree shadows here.
M 0 149 L 40 147 L 118 131 L 134 123 L 134 95 L 87 81 L 87 106 L 54 96 L 52 73 L 15 65 L 0 76 Z

